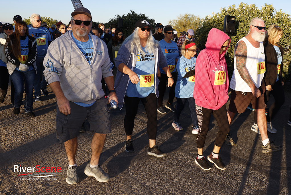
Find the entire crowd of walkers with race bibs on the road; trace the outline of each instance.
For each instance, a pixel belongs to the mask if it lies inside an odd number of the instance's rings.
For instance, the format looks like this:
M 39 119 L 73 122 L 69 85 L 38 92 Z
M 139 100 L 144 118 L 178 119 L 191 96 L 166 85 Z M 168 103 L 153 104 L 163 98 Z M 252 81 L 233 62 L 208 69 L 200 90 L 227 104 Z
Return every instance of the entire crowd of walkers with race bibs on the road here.
M 140 19 L 133 33 L 125 37 L 123 29 L 116 24 L 109 28 L 102 23 L 92 26 L 91 12 L 86 8 L 75 9 L 71 16 L 68 26 L 58 22 L 50 28 L 42 23 L 38 14 L 31 15 L 31 26 L 19 15 L 13 18 L 15 26 L 0 23 L 3 30 L 0 34 L 0 103 L 5 100 L 10 75 L 13 114 L 19 115 L 25 91 L 24 112 L 35 117 L 33 95 L 35 101 L 41 101 L 41 94 L 48 95 L 49 84 L 57 99 L 56 136 L 64 143 L 69 161 L 67 183 L 79 182 L 75 155 L 77 136 L 85 120 L 95 133 L 91 160 L 84 173 L 99 182 L 109 180 L 109 175 L 99 165 L 99 158 L 106 135 L 111 132 L 107 104 L 112 101 L 120 110 L 124 107 L 126 110 L 125 151 L 134 152 L 132 133 L 141 101 L 148 118 L 147 153 L 164 157 L 166 153 L 157 145 L 156 135 L 157 115 L 166 114 L 163 99 L 167 87 L 170 89 L 165 108 L 174 112 L 172 126 L 177 131 L 183 130 L 179 120 L 188 101 L 193 124 L 191 133 L 197 135 L 195 162 L 201 169 L 211 169 L 203 155 L 211 115 L 217 121 L 218 131 L 207 159 L 224 170 L 226 166 L 219 150 L 223 143 L 236 144 L 230 134 L 231 121 L 235 113 L 244 112 L 250 103 L 255 110 L 251 130 L 261 135 L 262 152 L 282 150 L 267 134 L 277 132 L 271 121 L 285 101 L 284 50 L 278 43 L 283 31 L 276 24 L 265 31 L 262 19 L 250 21 L 249 33 L 235 46 L 234 71 L 229 82 L 224 56 L 231 40 L 216 28 L 210 30 L 206 48 L 196 59 L 192 29 L 180 32 L 181 36 L 177 37 L 171 25 L 157 23 L 153 29 L 146 19 Z M 108 94 L 105 94 L 105 83 Z M 227 110 L 229 88 L 231 97 Z M 275 102 L 265 115 L 271 94 Z

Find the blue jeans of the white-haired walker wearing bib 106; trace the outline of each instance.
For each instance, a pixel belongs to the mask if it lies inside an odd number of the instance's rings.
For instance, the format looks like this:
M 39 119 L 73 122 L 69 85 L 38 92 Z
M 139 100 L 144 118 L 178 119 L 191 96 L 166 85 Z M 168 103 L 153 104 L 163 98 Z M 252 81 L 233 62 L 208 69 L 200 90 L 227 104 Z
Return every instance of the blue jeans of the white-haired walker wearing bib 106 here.
M 34 87 L 34 96 L 40 96 L 41 91 L 40 88 L 47 88 L 47 81 L 45 81 L 45 77 L 43 76 L 43 71 L 45 67 L 43 66 L 43 59 L 45 57 L 37 57 L 36 58 L 36 77 L 34 79 L 33 87 Z

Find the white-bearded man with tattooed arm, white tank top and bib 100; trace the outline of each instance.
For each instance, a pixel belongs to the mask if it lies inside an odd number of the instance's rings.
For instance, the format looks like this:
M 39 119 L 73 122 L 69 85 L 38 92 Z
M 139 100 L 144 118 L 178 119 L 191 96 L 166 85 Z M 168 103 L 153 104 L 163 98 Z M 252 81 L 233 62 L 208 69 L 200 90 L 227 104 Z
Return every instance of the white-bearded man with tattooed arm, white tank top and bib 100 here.
M 276 152 L 282 150 L 271 142 L 267 135 L 267 121 L 265 115 L 263 81 L 265 66 L 265 53 L 263 41 L 265 40 L 265 22 L 254 18 L 249 24 L 249 33 L 235 45 L 234 71 L 230 81 L 231 97 L 228 109 L 228 122 L 231 123 L 236 113 L 246 110 L 249 103 L 255 109 L 255 118 L 258 121 L 258 130 L 262 137 L 262 152 Z M 235 145 L 231 134 L 224 141 L 227 145 Z

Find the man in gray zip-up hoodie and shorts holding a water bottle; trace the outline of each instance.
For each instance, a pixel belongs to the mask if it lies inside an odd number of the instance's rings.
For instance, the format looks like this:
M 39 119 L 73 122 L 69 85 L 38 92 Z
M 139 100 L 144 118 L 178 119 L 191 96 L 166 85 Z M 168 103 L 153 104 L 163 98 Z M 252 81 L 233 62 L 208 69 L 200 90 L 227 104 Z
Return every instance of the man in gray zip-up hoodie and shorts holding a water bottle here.
M 111 132 L 107 103 L 118 103 L 108 50 L 98 37 L 89 34 L 92 17 L 88 9 L 81 7 L 72 12 L 72 31 L 58 37 L 50 44 L 44 59 L 44 75 L 57 99 L 56 135 L 65 143 L 69 167 L 66 182 L 79 182 L 75 160 L 77 136 L 87 118 L 91 130 L 92 157 L 84 169 L 87 176 L 99 182 L 107 182 L 109 176 L 100 165 L 106 135 Z M 104 98 L 101 78 L 109 88 L 109 99 Z

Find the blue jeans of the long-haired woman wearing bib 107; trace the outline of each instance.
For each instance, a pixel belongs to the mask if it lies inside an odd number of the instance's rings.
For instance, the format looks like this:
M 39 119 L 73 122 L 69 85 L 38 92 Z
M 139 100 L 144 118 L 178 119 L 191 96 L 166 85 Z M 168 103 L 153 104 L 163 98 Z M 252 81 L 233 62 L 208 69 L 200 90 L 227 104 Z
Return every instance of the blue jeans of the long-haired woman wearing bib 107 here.
M 36 71 L 32 69 L 31 71 L 22 72 L 15 70 L 11 77 L 15 88 L 15 97 L 14 97 L 14 107 L 20 108 L 22 103 L 23 91 L 25 86 L 25 104 L 24 104 L 24 112 L 32 111 L 33 104 L 33 82 L 36 76 Z

